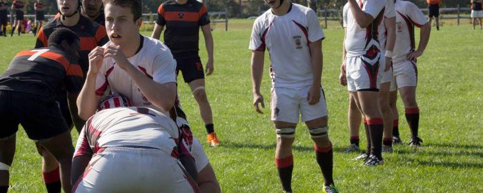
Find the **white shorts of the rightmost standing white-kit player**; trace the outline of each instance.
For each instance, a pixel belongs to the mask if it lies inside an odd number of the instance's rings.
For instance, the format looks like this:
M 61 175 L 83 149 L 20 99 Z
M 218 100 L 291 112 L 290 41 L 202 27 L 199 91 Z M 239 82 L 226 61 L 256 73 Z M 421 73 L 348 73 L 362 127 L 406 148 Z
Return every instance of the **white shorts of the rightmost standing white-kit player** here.
M 391 81 L 391 91 L 405 86 L 417 85 L 417 66 L 414 61 L 397 61 L 393 63 L 393 81 Z

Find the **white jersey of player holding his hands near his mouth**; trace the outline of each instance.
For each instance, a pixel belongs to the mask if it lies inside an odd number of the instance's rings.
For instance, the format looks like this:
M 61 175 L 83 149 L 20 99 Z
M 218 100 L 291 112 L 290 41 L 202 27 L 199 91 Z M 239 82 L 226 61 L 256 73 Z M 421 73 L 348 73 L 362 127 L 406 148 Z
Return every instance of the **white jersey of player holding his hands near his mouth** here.
M 109 44 L 110 42 L 106 43 L 103 48 Z M 161 41 L 150 37 L 142 37 L 141 46 L 141 50 L 129 57 L 128 61 L 153 81 L 158 83 L 176 82 L 176 61 L 169 48 Z M 110 88 L 112 94 L 126 96 L 135 106 L 159 110 L 146 99 L 129 74 L 115 65 L 112 58 L 103 59 L 102 67 L 97 74 L 96 94 L 103 95 L 107 88 Z

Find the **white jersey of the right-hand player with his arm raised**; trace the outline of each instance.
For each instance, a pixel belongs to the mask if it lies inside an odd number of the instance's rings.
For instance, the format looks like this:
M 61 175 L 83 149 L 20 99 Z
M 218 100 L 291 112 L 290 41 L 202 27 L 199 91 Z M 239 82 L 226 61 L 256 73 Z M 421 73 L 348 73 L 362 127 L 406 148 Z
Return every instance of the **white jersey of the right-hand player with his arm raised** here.
M 346 14 L 344 17 L 344 27 L 347 28 L 346 40 L 344 41 L 346 56 L 357 57 L 360 55 L 368 55 L 368 57 L 373 57 L 377 52 L 382 50 L 379 30 L 382 21 L 384 21 L 386 0 L 370 0 L 365 2 L 359 0 L 359 6 L 364 12 L 371 14 L 374 20 L 367 28 L 361 28 L 357 24 L 357 21 L 355 21 L 348 3 L 346 3 L 343 10 L 343 13 Z

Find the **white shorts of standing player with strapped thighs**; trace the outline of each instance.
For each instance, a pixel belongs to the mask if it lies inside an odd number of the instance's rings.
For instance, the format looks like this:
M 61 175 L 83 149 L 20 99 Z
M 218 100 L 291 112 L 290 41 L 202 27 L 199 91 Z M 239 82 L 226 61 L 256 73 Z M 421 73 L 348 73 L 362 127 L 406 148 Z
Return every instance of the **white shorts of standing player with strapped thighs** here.
M 306 88 L 272 88 L 270 110 L 272 121 L 298 123 L 299 114 L 302 121 L 311 121 L 327 116 L 327 105 L 324 90 L 320 88 L 320 100 L 315 105 L 308 105 L 307 94 L 311 86 Z

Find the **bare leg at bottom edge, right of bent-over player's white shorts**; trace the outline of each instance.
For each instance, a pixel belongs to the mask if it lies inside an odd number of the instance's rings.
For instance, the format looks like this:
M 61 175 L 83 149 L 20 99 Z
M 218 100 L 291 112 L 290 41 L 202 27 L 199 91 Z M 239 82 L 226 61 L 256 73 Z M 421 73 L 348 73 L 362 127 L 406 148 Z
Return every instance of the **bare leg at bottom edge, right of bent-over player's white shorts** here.
M 217 176 L 215 176 L 215 171 L 213 171 L 213 167 L 211 167 L 210 163 L 208 163 L 208 165 L 206 165 L 203 170 L 199 171 L 198 179 L 196 182 L 201 193 L 221 192 L 219 183 L 217 181 Z

